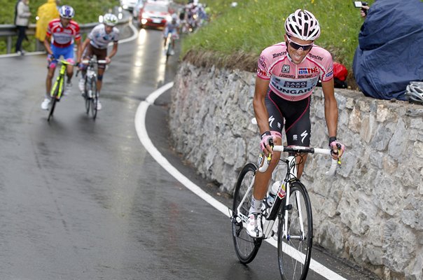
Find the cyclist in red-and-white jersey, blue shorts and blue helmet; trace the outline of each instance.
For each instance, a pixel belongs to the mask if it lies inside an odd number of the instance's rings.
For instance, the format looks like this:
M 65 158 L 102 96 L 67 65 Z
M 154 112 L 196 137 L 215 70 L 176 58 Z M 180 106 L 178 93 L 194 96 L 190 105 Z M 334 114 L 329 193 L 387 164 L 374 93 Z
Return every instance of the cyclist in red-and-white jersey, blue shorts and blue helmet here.
M 48 23 L 44 46 L 48 53 L 48 73 L 46 78 L 46 97 L 41 103 L 41 109 L 48 110 L 50 104 L 51 80 L 55 74 L 57 59 L 61 56 L 71 64 L 67 65 L 67 83 L 64 94 L 71 89 L 71 79 L 74 75 L 74 43 L 77 45 L 76 61 L 81 61 L 81 34 L 78 23 L 71 20 L 74 18 L 75 10 L 71 6 L 62 6 L 59 10 L 60 18 Z

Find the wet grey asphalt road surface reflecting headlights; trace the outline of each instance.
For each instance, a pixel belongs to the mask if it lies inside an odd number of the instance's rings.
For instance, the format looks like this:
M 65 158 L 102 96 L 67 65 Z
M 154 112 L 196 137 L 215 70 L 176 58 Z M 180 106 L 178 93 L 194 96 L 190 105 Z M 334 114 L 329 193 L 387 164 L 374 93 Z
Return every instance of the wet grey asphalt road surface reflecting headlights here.
M 160 31 L 119 45 L 95 121 L 74 79 L 47 122 L 45 55 L 0 64 L 0 279 L 280 279 L 275 248 L 263 243 L 254 262 L 240 265 L 228 218 L 167 174 L 137 137 L 137 106 L 176 73 Z M 166 92 L 148 109 L 149 137 L 214 194 L 169 148 L 169 99 Z M 347 279 L 367 279 L 324 259 Z

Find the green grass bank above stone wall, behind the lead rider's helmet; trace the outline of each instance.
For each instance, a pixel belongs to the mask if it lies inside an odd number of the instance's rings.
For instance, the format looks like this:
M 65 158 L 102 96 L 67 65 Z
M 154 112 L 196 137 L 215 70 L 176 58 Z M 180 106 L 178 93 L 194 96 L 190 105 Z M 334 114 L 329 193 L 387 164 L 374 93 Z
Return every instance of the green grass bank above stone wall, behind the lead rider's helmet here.
M 354 51 L 363 19 L 359 8 L 347 0 L 242 0 L 231 8 L 232 0 L 203 0 L 212 10 L 212 21 L 187 36 L 182 56 L 188 51 L 217 52 L 228 57 L 234 52 L 258 57 L 260 52 L 283 40 L 284 21 L 298 8 L 310 10 L 321 25 L 317 45 L 326 48 L 333 59 L 351 73 Z M 369 1 L 373 3 L 373 1 Z M 228 61 L 228 64 L 231 62 Z

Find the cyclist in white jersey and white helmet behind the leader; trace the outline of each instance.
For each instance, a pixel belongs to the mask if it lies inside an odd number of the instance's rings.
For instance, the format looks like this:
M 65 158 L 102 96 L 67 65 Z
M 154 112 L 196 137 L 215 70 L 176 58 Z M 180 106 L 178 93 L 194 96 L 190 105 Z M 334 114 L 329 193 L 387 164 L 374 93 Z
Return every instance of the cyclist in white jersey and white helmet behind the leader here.
M 88 37 L 83 42 L 83 59 L 90 59 L 92 55 L 97 57 L 97 60 L 106 60 L 106 64 L 111 62 L 111 57 L 118 52 L 119 29 L 115 27 L 118 24 L 118 17 L 111 13 L 106 13 L 103 16 L 103 23 L 95 26 Z M 107 45 L 113 42 L 113 49 L 107 54 Z M 102 90 L 102 81 L 106 64 L 98 64 L 97 73 L 97 90 Z M 87 65 L 80 64 L 82 71 L 82 78 L 79 80 L 79 90 L 84 91 L 84 80 Z M 102 104 L 97 102 L 97 110 L 102 109 Z

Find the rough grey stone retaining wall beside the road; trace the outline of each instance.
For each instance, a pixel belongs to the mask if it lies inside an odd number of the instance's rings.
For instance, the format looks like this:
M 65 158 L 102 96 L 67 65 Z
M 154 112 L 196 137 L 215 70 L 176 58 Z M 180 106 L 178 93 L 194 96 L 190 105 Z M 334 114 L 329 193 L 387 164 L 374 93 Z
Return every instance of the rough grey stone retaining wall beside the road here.
M 228 193 L 259 152 L 258 128 L 250 122 L 255 77 L 182 63 L 172 90 L 176 151 Z M 382 279 L 423 279 L 423 107 L 351 90 L 335 90 L 335 96 L 338 139 L 347 148 L 342 169 L 326 178 L 330 160 L 310 156 L 302 177 L 312 200 L 314 240 Z M 325 147 L 320 88 L 311 110 L 312 146 Z

